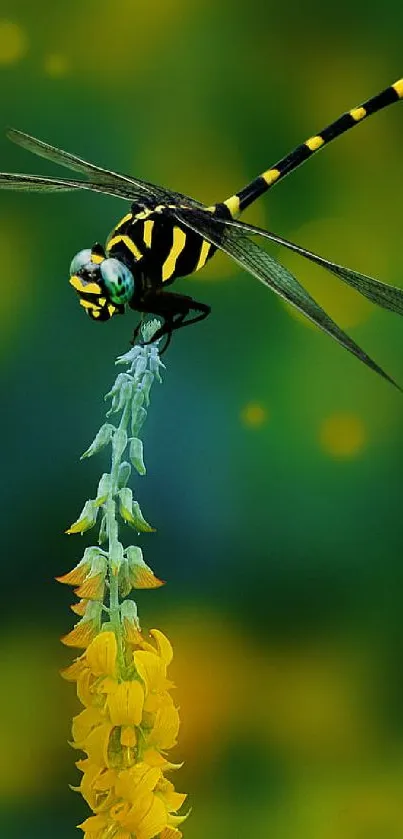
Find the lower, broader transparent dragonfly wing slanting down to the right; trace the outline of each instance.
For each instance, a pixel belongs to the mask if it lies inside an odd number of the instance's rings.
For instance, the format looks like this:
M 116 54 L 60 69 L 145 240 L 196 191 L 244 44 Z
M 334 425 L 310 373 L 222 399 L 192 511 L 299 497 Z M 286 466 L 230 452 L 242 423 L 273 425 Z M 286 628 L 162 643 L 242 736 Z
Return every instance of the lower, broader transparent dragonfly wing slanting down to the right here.
M 276 292 L 302 314 L 331 335 L 342 347 L 349 350 L 360 361 L 374 370 L 382 378 L 401 390 L 398 384 L 382 370 L 365 352 L 329 317 L 316 300 L 300 285 L 298 280 L 276 262 L 263 248 L 253 242 L 242 228 L 223 224 L 208 213 L 196 210 L 175 210 L 173 215 L 178 221 L 194 230 L 204 239 L 227 253 L 242 268 L 256 277 L 264 285 Z

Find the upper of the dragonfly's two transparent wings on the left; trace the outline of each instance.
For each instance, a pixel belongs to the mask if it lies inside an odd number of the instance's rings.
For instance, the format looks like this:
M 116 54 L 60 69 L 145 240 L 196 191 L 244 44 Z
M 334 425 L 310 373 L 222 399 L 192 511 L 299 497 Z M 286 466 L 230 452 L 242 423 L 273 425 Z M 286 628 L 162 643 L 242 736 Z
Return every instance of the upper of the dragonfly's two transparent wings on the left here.
M 25 134 L 23 131 L 18 131 L 15 128 L 8 129 L 7 137 L 13 143 L 17 143 L 18 146 L 22 146 L 22 148 L 39 155 L 39 157 L 51 160 L 59 166 L 66 166 L 74 172 L 80 172 L 89 178 L 93 185 L 104 184 L 110 186 L 110 195 L 115 194 L 119 197 L 127 198 L 130 201 L 138 201 L 139 203 L 141 203 L 141 200 L 144 201 L 147 199 L 157 204 L 176 203 L 184 200 L 189 206 L 202 207 L 202 204 L 179 192 L 173 192 L 172 190 L 148 183 L 148 181 L 142 181 L 139 178 L 131 178 L 128 175 L 121 175 L 118 172 L 103 169 L 101 166 L 89 163 L 87 160 L 83 160 L 75 154 L 51 146 L 49 143 L 38 140 L 36 137 L 31 137 L 30 134 Z

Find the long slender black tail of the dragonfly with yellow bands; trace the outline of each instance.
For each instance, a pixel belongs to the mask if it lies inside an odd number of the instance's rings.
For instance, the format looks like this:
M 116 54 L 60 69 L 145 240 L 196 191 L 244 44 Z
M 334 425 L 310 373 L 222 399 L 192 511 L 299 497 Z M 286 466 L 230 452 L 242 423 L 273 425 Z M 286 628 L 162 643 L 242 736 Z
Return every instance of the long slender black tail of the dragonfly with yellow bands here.
M 273 184 L 277 183 L 285 175 L 288 175 L 294 169 L 312 157 L 315 152 L 323 148 L 327 143 L 330 143 L 336 137 L 340 137 L 350 128 L 353 128 L 359 122 L 362 122 L 371 114 L 386 108 L 398 99 L 403 99 L 403 79 L 390 85 L 381 93 L 372 96 L 362 105 L 352 108 L 345 114 L 342 114 L 335 122 L 332 122 L 327 128 L 324 128 L 318 134 L 309 137 L 300 146 L 297 146 L 294 151 L 283 157 L 270 169 L 266 169 L 257 178 L 247 184 L 240 192 L 232 195 L 224 202 L 233 218 L 235 218 L 242 210 L 249 207 L 253 201 L 256 201 L 263 193 L 267 192 Z

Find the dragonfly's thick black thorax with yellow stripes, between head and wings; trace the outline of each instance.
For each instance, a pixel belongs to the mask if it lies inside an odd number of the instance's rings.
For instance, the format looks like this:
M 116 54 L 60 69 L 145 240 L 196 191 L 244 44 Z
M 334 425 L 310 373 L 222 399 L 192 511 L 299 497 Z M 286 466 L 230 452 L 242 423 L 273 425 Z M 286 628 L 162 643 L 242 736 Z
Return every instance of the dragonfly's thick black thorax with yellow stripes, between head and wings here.
M 132 205 L 106 244 L 108 256 L 125 261 L 142 274 L 146 287 L 154 289 L 199 271 L 217 250 L 185 225 L 174 223 L 164 214 L 166 209 L 163 204 L 147 210 Z

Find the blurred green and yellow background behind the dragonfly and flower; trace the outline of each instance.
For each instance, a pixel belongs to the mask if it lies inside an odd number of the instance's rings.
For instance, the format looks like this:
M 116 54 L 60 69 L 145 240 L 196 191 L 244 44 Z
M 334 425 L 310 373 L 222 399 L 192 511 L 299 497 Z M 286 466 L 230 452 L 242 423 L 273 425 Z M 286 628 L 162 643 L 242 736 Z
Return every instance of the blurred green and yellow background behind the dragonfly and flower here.
M 1 18 L 3 126 L 209 203 L 403 74 L 398 0 L 3 0 Z M 401 284 L 402 138 L 396 106 L 249 218 Z M 56 173 L 0 152 L 2 170 Z M 105 467 L 78 457 L 135 318 L 89 321 L 67 275 L 125 206 L 1 194 L 7 839 L 67 839 L 87 813 L 67 786 L 73 616 L 53 577 L 91 544 L 63 532 Z M 401 321 L 281 258 L 403 383 Z M 176 651 L 186 839 L 401 839 L 402 397 L 224 257 L 177 287 L 213 314 L 165 357 L 135 492 L 168 581 L 138 603 Z

